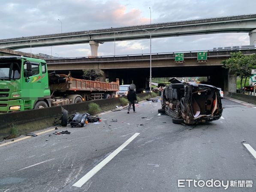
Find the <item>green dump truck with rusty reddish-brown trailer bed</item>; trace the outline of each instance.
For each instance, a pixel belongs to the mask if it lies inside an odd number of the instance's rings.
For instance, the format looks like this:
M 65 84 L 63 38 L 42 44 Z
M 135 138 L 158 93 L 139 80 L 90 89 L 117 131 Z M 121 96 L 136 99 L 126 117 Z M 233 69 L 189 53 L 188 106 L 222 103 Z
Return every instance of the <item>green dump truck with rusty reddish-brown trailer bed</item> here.
M 106 83 L 48 74 L 42 59 L 0 57 L 0 113 L 107 99 L 118 88 L 118 79 Z

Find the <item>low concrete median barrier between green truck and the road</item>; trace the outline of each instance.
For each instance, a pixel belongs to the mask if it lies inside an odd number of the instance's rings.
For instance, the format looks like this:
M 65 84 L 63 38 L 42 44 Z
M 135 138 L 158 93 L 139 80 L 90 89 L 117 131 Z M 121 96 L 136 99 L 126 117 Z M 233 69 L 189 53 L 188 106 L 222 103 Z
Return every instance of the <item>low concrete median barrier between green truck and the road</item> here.
M 150 93 L 137 94 L 138 97 L 148 96 Z M 126 96 L 124 98 L 127 98 Z M 27 111 L 18 111 L 15 113 L 1 113 L 0 114 L 0 140 L 10 136 L 11 126 L 15 126 L 18 129 L 19 134 L 26 134 L 33 131 L 38 131 L 43 128 L 53 126 L 54 121 L 61 117 L 61 107 L 69 112 L 69 115 L 73 113 L 87 112 L 90 103 L 96 103 L 100 106 L 102 111 L 108 111 L 114 109 L 115 106 L 120 106 L 120 99 L 98 99 L 88 102 L 76 103 L 71 105 L 62 105 L 51 108 L 35 109 Z

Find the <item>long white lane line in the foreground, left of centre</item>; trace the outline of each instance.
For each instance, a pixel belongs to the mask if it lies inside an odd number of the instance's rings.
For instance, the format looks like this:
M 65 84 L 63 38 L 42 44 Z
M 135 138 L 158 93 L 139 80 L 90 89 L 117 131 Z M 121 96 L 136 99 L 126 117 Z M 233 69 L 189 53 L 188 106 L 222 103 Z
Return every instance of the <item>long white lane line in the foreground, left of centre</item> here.
M 124 142 L 120 147 L 114 150 L 108 157 L 106 157 L 102 162 L 96 165 L 92 170 L 90 170 L 84 177 L 79 179 L 72 186 L 81 187 L 86 183 L 93 175 L 95 175 L 102 167 L 104 167 L 111 159 L 113 159 L 120 151 L 123 150 L 129 143 L 131 143 L 140 133 L 135 133 L 132 137 L 130 137 L 126 142 Z

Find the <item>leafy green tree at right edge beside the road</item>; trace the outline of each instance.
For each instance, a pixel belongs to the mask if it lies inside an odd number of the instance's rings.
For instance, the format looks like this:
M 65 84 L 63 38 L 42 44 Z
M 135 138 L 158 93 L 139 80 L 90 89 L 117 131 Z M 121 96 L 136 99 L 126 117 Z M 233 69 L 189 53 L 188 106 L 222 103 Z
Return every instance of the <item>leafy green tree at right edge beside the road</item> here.
M 251 75 L 251 70 L 256 67 L 256 55 L 244 55 L 242 52 L 230 53 L 231 57 L 222 61 L 226 69 L 235 71 L 236 76 L 240 76 L 240 87 L 242 88 L 242 81 L 245 78 L 244 87 L 247 78 Z

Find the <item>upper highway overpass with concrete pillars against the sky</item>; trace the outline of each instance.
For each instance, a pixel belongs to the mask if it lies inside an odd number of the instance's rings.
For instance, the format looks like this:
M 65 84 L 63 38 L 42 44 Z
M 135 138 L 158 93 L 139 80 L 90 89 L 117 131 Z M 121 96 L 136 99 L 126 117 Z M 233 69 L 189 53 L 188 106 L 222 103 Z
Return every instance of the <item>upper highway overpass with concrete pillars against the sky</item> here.
M 148 32 L 143 30 L 148 30 Z M 21 49 L 28 48 L 30 45 L 32 47 L 44 47 L 89 43 L 92 55 L 96 56 L 99 43 L 146 39 L 149 38 L 149 33 L 152 33 L 152 38 L 163 38 L 226 32 L 248 32 L 250 36 L 250 44 L 255 43 L 256 14 L 212 17 L 206 19 L 172 21 L 166 23 L 2 39 L 0 40 L 0 48 Z

